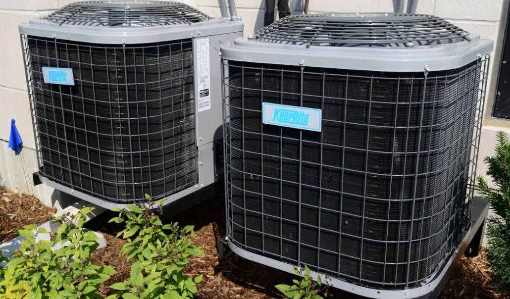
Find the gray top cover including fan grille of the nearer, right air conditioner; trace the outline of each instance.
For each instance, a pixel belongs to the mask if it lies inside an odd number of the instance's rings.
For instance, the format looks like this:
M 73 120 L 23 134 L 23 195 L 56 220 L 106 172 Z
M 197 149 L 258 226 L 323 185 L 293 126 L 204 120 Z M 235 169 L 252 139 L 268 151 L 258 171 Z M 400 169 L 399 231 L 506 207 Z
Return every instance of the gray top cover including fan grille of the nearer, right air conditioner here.
M 356 13 L 288 16 L 221 52 L 237 61 L 414 72 L 455 69 L 492 49 L 492 41 L 436 16 Z

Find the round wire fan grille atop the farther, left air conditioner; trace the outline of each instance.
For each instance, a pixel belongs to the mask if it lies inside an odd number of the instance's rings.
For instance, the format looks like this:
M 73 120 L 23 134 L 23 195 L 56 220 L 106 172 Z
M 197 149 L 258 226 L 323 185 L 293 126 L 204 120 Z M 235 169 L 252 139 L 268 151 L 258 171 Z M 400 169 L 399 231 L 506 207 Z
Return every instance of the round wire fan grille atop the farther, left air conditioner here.
M 191 24 L 209 16 L 182 3 L 156 1 L 84 1 L 48 15 L 60 25 L 147 27 Z

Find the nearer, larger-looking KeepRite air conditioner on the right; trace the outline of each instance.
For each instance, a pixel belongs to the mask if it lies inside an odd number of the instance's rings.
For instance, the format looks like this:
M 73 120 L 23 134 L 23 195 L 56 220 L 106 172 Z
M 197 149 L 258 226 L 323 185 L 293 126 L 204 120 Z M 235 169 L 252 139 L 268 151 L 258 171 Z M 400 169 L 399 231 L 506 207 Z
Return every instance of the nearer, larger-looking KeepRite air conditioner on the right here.
M 230 248 L 363 296 L 431 292 L 471 229 L 492 47 L 394 13 L 290 16 L 223 45 Z

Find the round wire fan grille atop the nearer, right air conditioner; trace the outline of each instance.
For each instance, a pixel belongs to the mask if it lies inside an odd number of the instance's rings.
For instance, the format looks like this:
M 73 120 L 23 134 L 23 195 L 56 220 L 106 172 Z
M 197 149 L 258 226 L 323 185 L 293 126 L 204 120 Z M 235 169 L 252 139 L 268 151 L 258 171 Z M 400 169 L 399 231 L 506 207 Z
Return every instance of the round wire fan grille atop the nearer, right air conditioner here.
M 421 46 L 470 40 L 446 20 L 418 14 L 311 14 L 280 19 L 257 31 L 267 42 L 322 46 Z

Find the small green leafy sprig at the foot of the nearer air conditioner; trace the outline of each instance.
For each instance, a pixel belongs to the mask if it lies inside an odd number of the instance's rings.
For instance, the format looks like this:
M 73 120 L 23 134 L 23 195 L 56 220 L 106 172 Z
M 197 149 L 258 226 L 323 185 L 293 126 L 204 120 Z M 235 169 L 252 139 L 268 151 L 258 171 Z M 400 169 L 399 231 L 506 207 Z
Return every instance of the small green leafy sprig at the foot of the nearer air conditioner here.
M 300 279 L 292 280 L 293 285 L 279 284 L 274 287 L 287 298 L 292 299 L 323 299 L 327 297 L 327 285 L 322 284 L 319 275 L 317 275 L 317 281 L 314 281 L 308 266 L 305 265 L 304 269 L 294 267 L 294 273 Z M 324 297 L 321 294 L 324 294 Z

